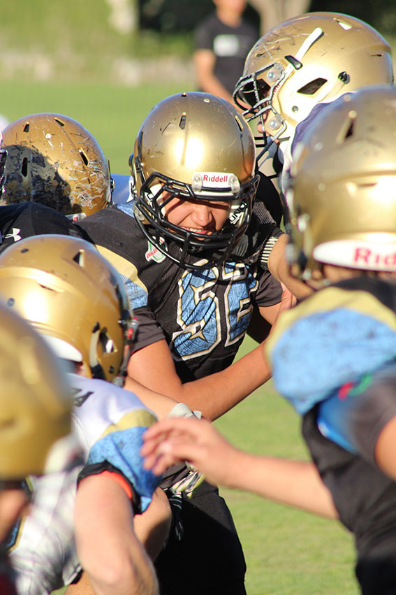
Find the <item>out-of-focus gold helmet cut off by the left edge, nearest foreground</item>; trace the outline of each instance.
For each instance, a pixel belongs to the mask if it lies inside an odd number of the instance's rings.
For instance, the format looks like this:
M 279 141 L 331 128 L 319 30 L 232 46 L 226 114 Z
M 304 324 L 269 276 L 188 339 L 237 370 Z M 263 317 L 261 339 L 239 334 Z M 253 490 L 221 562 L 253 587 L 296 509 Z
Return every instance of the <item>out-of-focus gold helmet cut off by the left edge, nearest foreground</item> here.
M 63 468 L 71 389 L 43 338 L 3 304 L 0 385 L 0 485 Z

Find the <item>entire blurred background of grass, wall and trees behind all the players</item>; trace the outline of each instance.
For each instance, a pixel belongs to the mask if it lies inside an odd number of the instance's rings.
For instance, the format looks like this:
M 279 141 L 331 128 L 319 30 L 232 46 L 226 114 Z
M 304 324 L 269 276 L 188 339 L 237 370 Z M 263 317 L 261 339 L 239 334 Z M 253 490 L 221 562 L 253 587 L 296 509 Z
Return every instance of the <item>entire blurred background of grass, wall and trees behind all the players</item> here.
M 196 89 L 193 31 L 212 0 L 1 0 L 0 115 L 74 117 L 101 144 L 113 173 L 129 173 L 140 123 L 155 103 Z M 265 31 L 307 11 L 348 13 L 396 45 L 396 0 L 251 0 Z M 1 121 L 0 121 L 1 127 Z M 247 338 L 242 352 L 254 347 Z M 250 452 L 307 457 L 299 420 L 268 383 L 217 425 Z M 249 595 L 357 595 L 351 537 L 337 523 L 226 494 L 247 557 Z

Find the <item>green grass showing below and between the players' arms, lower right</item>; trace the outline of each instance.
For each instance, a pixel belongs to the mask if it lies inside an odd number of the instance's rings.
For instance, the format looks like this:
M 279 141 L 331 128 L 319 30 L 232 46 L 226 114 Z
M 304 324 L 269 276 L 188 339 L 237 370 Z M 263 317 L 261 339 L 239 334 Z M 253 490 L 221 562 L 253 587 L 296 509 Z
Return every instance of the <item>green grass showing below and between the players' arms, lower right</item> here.
M 256 343 L 249 337 L 241 354 Z M 256 454 L 307 459 L 300 420 L 272 382 L 216 422 L 237 446 Z M 253 494 L 221 489 L 247 559 L 248 595 L 358 594 L 353 540 L 342 526 Z

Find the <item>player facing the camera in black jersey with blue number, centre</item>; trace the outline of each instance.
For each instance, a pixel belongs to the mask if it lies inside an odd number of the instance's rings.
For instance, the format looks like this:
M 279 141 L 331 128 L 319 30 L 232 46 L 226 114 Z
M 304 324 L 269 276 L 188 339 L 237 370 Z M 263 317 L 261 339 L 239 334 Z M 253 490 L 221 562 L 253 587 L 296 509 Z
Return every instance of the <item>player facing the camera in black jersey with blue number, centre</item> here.
M 253 305 L 272 324 L 281 299 L 279 283 L 254 264 L 255 237 L 274 227 L 254 208 L 254 164 L 254 138 L 230 103 L 170 96 L 136 136 L 135 200 L 76 224 L 129 284 L 140 323 L 129 376 L 210 420 L 269 378 L 262 345 L 233 364 Z M 169 494 L 178 477 L 169 472 L 162 484 Z M 204 482 L 180 506 L 184 536 L 156 561 L 164 592 L 192 573 L 194 593 L 243 594 L 242 548 L 217 489 Z

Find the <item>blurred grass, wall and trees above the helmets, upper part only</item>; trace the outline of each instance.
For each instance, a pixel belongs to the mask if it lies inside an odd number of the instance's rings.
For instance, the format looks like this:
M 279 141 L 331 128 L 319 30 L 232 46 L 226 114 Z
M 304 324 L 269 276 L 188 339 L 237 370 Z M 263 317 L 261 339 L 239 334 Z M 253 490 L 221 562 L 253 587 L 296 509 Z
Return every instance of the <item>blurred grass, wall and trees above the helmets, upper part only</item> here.
M 98 138 L 112 171 L 128 173 L 148 110 L 197 88 L 193 31 L 213 10 L 212 0 L 2 0 L 0 114 L 75 117 Z M 251 0 L 244 16 L 263 34 L 309 10 L 362 18 L 396 45 L 396 0 Z

